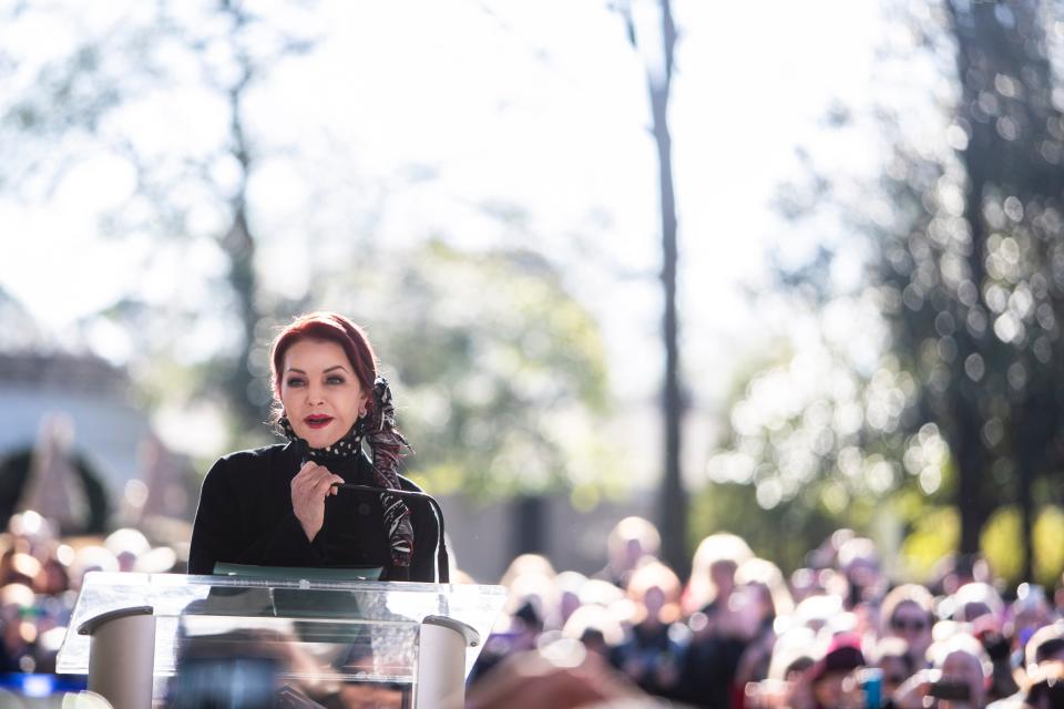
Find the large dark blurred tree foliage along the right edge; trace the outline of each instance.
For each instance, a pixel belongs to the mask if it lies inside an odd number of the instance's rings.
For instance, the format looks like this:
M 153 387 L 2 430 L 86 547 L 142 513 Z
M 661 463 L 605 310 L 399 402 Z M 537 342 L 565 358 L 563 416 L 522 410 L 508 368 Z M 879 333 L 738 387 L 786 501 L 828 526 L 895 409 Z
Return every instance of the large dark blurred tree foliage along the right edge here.
M 893 517 L 917 574 L 960 549 L 1010 580 L 1046 579 L 1060 543 L 1040 540 L 1057 517 L 1035 512 L 1064 503 L 1060 3 L 890 7 L 910 41 L 882 61 L 903 89 L 924 73 L 934 91 L 913 107 L 911 91 L 883 86 L 869 119 L 886 148 L 877 179 L 807 156 L 806 182 L 788 187 L 785 216 L 846 236 L 781 266 L 819 330 L 740 381 L 708 475 L 751 484 L 745 508 L 765 525 L 802 500 L 811 523 L 822 511 L 869 532 Z M 829 121 L 837 140 L 856 123 L 848 111 Z M 846 289 L 837 257 L 855 243 L 867 279 Z M 704 524 L 749 528 L 743 517 Z

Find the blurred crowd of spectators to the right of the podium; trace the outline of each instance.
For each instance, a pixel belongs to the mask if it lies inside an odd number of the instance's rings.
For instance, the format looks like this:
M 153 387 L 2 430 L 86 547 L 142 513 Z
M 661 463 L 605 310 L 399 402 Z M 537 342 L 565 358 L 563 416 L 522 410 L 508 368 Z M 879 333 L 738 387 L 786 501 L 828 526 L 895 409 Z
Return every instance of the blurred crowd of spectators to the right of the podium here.
M 687 583 L 640 517 L 592 576 L 515 558 L 505 617 L 468 706 L 713 709 L 1064 708 L 1064 588 L 1006 588 L 949 557 L 896 583 L 849 530 L 785 576 L 733 534 L 698 546 Z

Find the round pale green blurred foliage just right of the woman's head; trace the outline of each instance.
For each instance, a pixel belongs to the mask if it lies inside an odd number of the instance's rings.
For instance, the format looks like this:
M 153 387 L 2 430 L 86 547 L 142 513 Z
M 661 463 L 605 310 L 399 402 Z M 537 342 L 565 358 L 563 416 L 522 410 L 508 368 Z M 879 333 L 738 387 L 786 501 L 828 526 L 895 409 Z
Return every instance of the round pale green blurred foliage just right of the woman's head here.
M 315 300 L 367 327 L 417 451 L 408 470 L 433 491 L 573 485 L 586 505 L 617 489 L 598 327 L 542 257 L 431 240 L 337 274 Z

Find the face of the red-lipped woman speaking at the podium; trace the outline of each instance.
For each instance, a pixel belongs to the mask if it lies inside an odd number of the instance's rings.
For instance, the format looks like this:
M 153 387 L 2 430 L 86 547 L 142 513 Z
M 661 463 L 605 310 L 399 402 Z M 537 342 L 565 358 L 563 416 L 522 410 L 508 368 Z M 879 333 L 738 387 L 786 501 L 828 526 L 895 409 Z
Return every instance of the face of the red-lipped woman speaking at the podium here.
M 285 352 L 280 403 L 296 435 L 310 448 L 332 445 L 355 425 L 367 395 L 344 348 L 298 340 Z

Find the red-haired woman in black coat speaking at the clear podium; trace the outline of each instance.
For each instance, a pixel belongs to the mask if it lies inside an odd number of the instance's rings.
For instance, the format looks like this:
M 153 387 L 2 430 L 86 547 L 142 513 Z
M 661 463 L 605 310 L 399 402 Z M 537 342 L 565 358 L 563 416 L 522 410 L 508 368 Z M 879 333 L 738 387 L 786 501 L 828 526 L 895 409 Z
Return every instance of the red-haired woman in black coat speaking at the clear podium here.
M 336 486 L 418 491 L 398 474 L 407 443 L 361 328 L 331 312 L 301 316 L 274 341 L 270 370 L 274 420 L 288 443 L 214 464 L 203 481 L 188 573 L 211 574 L 227 562 L 381 567 L 387 580 L 436 580 L 438 527 L 424 501 Z

